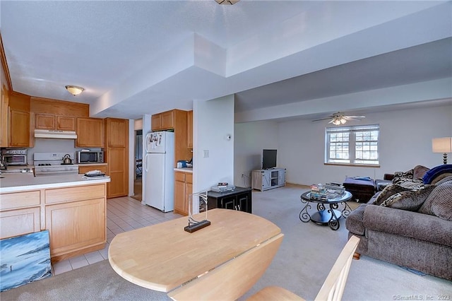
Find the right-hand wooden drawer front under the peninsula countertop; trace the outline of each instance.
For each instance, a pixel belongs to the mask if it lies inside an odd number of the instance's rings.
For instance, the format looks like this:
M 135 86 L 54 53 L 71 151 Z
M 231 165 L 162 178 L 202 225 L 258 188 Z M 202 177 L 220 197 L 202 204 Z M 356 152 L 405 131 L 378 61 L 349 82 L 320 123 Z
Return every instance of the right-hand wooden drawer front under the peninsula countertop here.
M 45 203 L 63 203 L 105 197 L 105 184 L 46 189 Z

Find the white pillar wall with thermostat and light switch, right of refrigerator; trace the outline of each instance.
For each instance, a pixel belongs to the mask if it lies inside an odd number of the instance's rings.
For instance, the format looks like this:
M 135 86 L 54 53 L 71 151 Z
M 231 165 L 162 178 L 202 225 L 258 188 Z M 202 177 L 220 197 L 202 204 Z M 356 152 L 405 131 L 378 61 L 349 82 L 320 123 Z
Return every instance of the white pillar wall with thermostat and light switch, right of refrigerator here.
M 193 191 L 234 179 L 234 96 L 193 104 Z M 230 140 L 226 136 L 230 135 Z M 208 158 L 203 153 L 208 151 Z

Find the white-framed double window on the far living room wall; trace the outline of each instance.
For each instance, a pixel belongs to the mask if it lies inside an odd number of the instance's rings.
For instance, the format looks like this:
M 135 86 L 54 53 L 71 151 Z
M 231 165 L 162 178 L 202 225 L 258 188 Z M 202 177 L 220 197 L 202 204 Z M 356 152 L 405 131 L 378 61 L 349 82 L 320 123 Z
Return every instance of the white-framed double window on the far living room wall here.
M 379 165 L 378 124 L 325 130 L 325 163 Z

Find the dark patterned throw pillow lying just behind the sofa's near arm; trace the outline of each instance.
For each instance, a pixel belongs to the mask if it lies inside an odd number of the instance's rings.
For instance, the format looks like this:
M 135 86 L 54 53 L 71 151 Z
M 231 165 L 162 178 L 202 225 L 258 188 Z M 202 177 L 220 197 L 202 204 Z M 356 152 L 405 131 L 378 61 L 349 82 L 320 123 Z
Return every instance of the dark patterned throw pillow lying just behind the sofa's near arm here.
M 422 189 L 412 191 L 401 191 L 388 197 L 381 206 L 397 208 L 408 211 L 417 211 L 424 203 L 425 199 L 432 193 L 434 185 L 426 185 Z

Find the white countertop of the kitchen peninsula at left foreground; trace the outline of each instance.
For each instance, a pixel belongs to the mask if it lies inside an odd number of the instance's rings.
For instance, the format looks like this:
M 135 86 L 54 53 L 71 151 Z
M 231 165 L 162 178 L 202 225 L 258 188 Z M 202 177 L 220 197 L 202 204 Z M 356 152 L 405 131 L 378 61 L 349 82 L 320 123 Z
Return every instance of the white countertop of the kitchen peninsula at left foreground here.
M 0 193 L 34 189 L 59 188 L 110 182 L 102 179 L 83 179 L 83 175 L 41 175 L 34 177 L 31 172 L 0 175 Z

